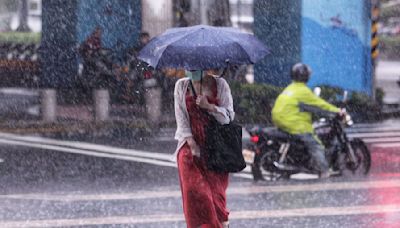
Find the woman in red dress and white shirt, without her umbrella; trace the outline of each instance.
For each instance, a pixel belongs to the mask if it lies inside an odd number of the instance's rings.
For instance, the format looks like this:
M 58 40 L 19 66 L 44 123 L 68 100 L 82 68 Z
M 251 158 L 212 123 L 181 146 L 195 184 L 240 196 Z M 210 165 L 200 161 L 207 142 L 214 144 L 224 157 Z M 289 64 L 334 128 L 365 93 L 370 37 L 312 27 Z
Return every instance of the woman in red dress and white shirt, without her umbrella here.
M 204 111 L 221 124 L 233 120 L 231 91 L 214 71 L 186 71 L 186 76 L 176 83 L 174 91 L 175 138 L 179 141 L 177 159 L 186 222 L 188 227 L 228 227 L 228 173 L 208 170 L 207 152 L 202 150 L 200 157 L 200 148 L 205 147 L 209 123 Z

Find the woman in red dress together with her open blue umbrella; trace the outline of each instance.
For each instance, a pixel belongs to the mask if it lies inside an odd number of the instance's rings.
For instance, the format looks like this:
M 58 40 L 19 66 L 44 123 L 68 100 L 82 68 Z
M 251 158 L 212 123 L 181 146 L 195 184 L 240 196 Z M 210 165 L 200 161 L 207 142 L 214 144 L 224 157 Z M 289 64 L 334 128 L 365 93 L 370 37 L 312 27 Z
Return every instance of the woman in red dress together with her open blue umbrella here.
M 139 58 L 154 68 L 185 69 L 175 84 L 174 105 L 178 147 L 175 156 L 186 223 L 192 227 L 228 227 L 228 173 L 207 169 L 205 128 L 210 116 L 221 124 L 235 112 L 228 83 L 218 70 L 228 64 L 253 64 L 268 53 L 253 35 L 234 28 L 197 25 L 173 28 L 153 38 Z M 197 96 L 196 96 L 197 95 Z

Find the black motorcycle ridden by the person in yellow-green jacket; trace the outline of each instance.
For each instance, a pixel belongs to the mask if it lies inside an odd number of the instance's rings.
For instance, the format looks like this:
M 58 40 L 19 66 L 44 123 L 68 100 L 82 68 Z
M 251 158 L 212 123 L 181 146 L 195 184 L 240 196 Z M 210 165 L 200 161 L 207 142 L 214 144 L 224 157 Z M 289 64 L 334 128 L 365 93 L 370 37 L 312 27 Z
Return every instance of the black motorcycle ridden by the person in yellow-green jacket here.
M 314 131 L 325 146 L 329 167 L 336 175 L 366 175 L 371 167 L 371 155 L 359 138 L 349 139 L 345 128 L 351 127 L 351 116 L 327 114 L 313 123 Z M 297 173 L 318 174 L 302 140 L 276 128 L 247 128 L 250 142 L 243 149 L 251 165 L 255 181 L 289 179 Z

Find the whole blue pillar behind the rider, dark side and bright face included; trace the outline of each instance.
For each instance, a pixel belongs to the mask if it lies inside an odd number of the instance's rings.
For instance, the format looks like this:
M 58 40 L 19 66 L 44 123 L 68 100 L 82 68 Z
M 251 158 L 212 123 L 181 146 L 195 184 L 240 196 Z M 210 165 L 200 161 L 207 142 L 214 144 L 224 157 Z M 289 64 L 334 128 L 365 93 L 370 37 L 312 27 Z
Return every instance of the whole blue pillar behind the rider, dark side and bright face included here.
M 286 86 L 302 61 L 311 87 L 371 94 L 370 25 L 365 0 L 254 0 L 254 33 L 272 52 L 255 65 L 255 81 Z

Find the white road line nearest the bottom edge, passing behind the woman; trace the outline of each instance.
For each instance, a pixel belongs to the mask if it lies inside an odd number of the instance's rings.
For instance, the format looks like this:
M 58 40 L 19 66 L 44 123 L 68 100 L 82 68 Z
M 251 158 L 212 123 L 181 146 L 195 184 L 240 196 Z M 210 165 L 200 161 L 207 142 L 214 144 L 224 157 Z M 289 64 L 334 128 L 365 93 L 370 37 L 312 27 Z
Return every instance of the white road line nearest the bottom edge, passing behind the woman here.
M 313 207 L 281 210 L 254 210 L 231 211 L 230 220 L 243 219 L 268 219 L 291 217 L 316 217 L 339 215 L 371 215 L 371 214 L 397 214 L 400 213 L 399 205 L 366 205 L 348 207 Z M 400 218 L 399 218 L 400 220 Z M 65 226 L 94 226 L 94 225 L 122 225 L 122 224 L 149 224 L 183 222 L 183 214 L 154 214 L 136 216 L 116 216 L 102 218 L 77 218 L 77 219 L 49 219 L 30 221 L 2 221 L 0 226 L 9 227 L 65 227 Z

